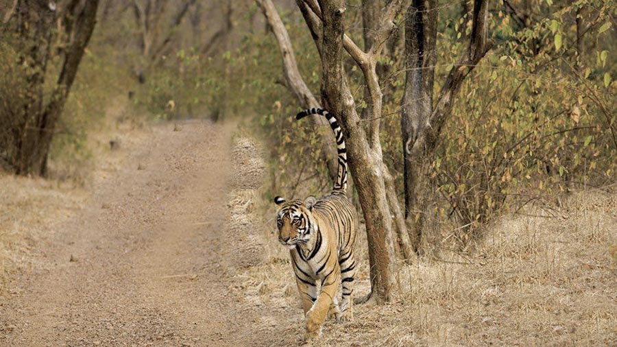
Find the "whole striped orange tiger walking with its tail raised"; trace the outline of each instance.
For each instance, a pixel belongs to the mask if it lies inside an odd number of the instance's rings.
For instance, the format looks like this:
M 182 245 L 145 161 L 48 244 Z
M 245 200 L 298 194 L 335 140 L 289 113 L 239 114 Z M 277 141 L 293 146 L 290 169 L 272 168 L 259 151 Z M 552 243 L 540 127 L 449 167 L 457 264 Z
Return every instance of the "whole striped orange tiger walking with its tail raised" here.
M 278 241 L 289 248 L 295 282 L 302 298 L 306 339 L 322 334 L 328 318 L 352 320 L 352 294 L 356 261 L 354 246 L 359 219 L 347 194 L 347 149 L 337 119 L 321 108 L 304 110 L 295 116 L 326 117 L 335 134 L 338 152 L 337 177 L 330 193 L 317 199 L 287 201 L 274 198 L 279 206 L 276 218 Z M 339 307 L 337 291 L 343 287 Z

